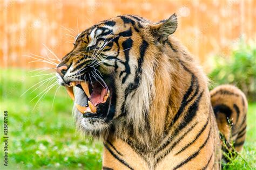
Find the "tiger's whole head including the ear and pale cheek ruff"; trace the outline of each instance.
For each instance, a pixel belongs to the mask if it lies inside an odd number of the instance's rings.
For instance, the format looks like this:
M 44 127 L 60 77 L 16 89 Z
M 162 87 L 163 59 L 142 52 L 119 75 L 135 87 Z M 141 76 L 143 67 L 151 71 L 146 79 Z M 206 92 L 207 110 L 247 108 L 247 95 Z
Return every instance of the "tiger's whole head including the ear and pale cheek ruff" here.
M 77 35 L 73 49 L 57 66 L 57 77 L 75 100 L 80 129 L 95 137 L 115 126 L 133 126 L 143 133 L 156 96 L 158 58 L 176 29 L 175 14 L 158 23 L 124 15 Z

